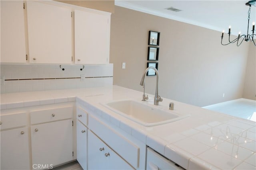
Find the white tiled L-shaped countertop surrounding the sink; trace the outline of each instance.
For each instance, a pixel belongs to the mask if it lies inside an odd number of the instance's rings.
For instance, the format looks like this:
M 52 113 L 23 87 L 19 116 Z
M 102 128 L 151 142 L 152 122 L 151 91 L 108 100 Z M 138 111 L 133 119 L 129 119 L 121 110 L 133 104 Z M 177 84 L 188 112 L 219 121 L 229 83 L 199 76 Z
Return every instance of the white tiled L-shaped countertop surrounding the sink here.
M 1 94 L 1 110 L 76 101 L 136 137 L 185 169 L 256 169 L 256 122 L 224 115 L 163 98 L 153 106 L 154 96 L 142 102 L 142 92 L 108 86 Z M 149 106 L 189 117 L 164 125 L 144 127 L 104 107 L 102 103 L 132 99 Z

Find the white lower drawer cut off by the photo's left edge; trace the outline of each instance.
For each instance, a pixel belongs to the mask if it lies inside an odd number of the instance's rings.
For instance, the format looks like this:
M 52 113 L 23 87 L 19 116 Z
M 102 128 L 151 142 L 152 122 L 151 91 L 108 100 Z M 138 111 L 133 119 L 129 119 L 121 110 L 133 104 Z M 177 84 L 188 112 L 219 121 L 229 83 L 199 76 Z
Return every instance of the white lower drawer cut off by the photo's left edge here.
M 14 113 L 9 115 L 1 115 L 1 130 L 13 128 L 13 127 L 21 127 L 27 124 L 27 116 L 25 112 L 22 113 Z

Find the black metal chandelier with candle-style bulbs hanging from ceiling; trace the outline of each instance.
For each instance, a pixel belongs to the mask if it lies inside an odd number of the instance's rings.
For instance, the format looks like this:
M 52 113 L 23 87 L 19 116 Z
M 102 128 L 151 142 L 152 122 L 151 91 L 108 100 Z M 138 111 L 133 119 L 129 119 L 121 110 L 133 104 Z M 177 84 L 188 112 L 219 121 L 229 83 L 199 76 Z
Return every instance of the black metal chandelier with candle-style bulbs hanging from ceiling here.
M 254 26 L 255 26 L 255 22 L 252 23 L 252 34 L 249 34 L 249 24 L 250 24 L 250 13 L 251 13 L 251 7 L 252 5 L 256 4 L 256 0 L 251 0 L 249 2 L 247 2 L 245 5 L 249 6 L 249 10 L 248 10 L 248 26 L 247 26 L 247 34 L 243 34 L 240 35 L 241 33 L 238 33 L 238 37 L 232 41 L 230 41 L 230 31 L 231 31 L 231 26 L 228 27 L 228 43 L 227 44 L 223 44 L 222 43 L 222 39 L 223 39 L 223 35 L 224 35 L 224 31 L 222 31 L 222 35 L 221 35 L 221 44 L 222 45 L 228 45 L 230 43 L 236 43 L 236 46 L 239 46 L 242 44 L 243 41 L 250 41 L 253 42 L 254 45 L 256 46 L 253 38 L 256 38 L 256 35 L 254 34 Z

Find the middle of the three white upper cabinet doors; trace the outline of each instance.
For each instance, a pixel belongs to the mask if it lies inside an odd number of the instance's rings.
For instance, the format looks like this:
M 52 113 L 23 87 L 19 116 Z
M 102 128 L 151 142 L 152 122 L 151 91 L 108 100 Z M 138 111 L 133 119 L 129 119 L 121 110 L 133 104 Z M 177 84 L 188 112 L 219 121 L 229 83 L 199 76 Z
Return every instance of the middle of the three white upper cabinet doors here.
M 30 63 L 72 63 L 71 10 L 27 1 Z

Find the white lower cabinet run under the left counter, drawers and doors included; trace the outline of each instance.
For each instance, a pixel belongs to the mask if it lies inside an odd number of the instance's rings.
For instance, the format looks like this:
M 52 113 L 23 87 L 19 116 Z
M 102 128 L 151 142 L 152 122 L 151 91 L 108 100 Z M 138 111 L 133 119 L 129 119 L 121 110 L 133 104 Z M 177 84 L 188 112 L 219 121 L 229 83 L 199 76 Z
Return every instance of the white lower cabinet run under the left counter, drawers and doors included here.
M 76 160 L 74 110 L 74 102 L 1 110 L 0 169 L 51 169 Z

